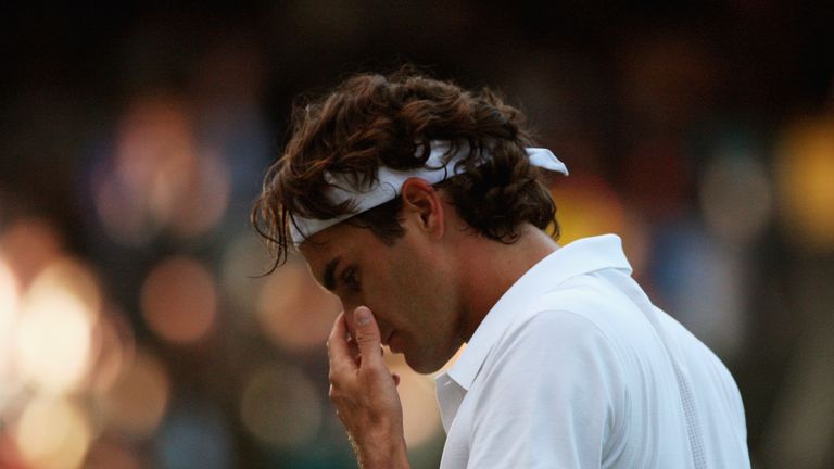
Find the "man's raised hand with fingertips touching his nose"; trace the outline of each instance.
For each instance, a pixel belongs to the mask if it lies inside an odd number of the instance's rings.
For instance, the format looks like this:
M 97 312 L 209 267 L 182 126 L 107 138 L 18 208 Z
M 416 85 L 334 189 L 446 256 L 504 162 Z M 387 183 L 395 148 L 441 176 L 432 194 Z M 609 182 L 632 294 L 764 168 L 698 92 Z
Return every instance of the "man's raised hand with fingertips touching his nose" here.
M 327 341 L 330 400 L 348 429 L 359 467 L 407 468 L 399 377 L 382 360 L 379 327 L 370 309 L 357 307 L 353 319 L 353 338 L 341 313 Z

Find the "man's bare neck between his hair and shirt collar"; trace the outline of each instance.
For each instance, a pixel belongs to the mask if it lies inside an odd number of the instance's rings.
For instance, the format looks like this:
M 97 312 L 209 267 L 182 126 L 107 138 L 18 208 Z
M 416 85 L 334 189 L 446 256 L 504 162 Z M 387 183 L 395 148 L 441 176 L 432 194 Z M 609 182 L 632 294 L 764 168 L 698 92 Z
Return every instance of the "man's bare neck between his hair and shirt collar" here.
M 501 296 L 558 249 L 556 241 L 532 225 L 522 226 L 518 241 L 513 244 L 475 236 L 465 241 L 458 251 L 465 310 L 459 326 L 462 339 L 468 342 Z

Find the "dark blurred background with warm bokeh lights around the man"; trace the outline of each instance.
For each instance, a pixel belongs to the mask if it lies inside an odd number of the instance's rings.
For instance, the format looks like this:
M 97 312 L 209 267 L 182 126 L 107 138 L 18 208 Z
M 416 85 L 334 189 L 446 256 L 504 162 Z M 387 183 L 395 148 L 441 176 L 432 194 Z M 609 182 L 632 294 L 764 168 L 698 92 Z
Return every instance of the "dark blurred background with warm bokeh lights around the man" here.
M 258 277 L 248 217 L 295 96 L 406 62 L 527 112 L 561 241 L 623 238 L 756 467 L 834 467 L 830 3 L 121 3 L 0 7 L 0 467 L 355 467 L 339 302 L 298 258 Z M 437 467 L 432 377 L 389 359 Z

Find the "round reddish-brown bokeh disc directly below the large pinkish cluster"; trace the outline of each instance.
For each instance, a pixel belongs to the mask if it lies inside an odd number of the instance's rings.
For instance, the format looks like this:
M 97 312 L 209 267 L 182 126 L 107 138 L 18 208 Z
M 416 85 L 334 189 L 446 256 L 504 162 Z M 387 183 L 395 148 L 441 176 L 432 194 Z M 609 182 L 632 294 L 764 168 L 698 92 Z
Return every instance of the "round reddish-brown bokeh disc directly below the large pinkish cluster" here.
M 141 305 L 144 320 L 160 337 L 180 343 L 198 341 L 217 320 L 214 275 L 190 257 L 165 259 L 146 279 Z

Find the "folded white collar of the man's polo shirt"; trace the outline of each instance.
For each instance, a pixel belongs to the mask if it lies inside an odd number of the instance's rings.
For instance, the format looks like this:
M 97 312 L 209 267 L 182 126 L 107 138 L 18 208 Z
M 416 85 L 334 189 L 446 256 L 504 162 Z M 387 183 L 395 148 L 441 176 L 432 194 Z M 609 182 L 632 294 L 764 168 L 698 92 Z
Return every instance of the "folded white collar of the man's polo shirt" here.
M 486 355 L 507 329 L 513 318 L 542 293 L 566 280 L 604 268 L 631 274 L 622 241 L 616 234 L 603 234 L 573 241 L 547 255 L 522 275 L 495 303 L 472 334 L 458 359 L 441 375 L 468 391 Z M 444 378 L 445 379 L 445 378 Z

